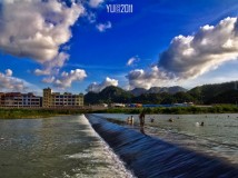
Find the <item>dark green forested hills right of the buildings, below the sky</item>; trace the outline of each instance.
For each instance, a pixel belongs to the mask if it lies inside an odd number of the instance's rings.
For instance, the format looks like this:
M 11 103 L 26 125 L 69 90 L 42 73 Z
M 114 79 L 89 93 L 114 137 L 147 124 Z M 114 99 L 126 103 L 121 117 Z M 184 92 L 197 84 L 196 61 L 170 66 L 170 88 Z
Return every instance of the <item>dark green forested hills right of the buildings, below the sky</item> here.
M 177 88 L 178 91 L 181 90 Z M 137 89 L 143 91 L 141 89 Z M 155 91 L 155 90 L 153 90 Z M 214 105 L 214 103 L 238 103 L 238 90 L 235 89 L 235 82 L 225 82 L 219 85 L 205 85 L 196 87 L 189 91 L 175 92 L 143 92 L 141 95 L 132 95 L 130 91 L 125 91 L 118 87 L 107 87 L 101 92 L 88 92 L 85 96 L 86 105 L 98 103 L 157 103 L 170 105 L 194 102 L 197 105 Z M 165 90 L 168 91 L 168 90 Z M 137 91 L 137 93 L 139 93 Z

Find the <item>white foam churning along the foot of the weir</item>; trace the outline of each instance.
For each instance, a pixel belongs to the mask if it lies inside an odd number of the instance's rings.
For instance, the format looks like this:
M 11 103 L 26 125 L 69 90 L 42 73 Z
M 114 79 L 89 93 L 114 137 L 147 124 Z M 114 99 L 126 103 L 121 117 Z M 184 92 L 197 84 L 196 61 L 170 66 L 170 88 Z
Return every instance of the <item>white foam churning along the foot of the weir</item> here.
M 117 178 L 135 178 L 133 174 L 125 167 L 125 162 L 122 162 L 119 157 L 111 150 L 111 148 L 105 142 L 105 140 L 93 130 L 88 119 L 85 115 L 79 116 L 78 121 L 80 125 L 85 125 L 85 130 L 80 130 L 87 132 L 89 137 L 97 137 L 98 141 L 93 141 L 93 147 L 89 150 L 83 150 L 83 152 L 78 152 L 73 155 L 67 155 L 67 159 L 87 159 L 90 158 L 93 162 L 105 162 L 107 166 L 93 167 L 96 177 L 117 177 Z M 75 170 L 76 168 L 73 168 Z M 91 169 L 91 167 L 89 167 Z M 67 177 L 65 175 L 65 177 Z M 73 177 L 87 177 L 87 175 L 81 175 L 80 171 L 76 171 Z

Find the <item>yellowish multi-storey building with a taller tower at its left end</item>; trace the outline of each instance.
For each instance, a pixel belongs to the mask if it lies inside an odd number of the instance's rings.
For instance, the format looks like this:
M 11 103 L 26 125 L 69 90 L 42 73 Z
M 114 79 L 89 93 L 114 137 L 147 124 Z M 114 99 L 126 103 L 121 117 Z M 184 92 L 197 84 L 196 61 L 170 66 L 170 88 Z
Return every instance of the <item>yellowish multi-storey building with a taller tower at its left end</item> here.
M 43 108 L 69 107 L 77 108 L 83 106 L 83 95 L 72 95 L 70 92 L 52 92 L 50 88 L 43 89 Z

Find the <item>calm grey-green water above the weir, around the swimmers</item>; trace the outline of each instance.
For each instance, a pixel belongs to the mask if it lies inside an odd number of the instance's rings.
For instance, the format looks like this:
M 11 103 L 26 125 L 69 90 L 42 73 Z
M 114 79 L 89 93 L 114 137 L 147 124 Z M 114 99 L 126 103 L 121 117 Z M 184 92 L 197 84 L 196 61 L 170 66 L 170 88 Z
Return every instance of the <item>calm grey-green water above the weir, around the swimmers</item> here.
M 129 115 L 98 113 L 123 121 Z M 138 115 L 133 115 L 139 129 Z M 169 121 L 172 119 L 172 121 Z M 152 120 L 152 122 L 151 122 Z M 201 127 L 197 122 L 205 122 Z M 145 132 L 199 152 L 238 165 L 238 115 L 147 115 Z

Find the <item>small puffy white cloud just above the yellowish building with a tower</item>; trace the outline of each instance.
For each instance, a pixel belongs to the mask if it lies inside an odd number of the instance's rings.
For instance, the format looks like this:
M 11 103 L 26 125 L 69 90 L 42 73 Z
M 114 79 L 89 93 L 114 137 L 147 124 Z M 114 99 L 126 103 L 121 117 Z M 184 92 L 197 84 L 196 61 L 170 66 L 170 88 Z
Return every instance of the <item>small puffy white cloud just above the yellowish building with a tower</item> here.
M 70 72 L 63 71 L 60 77 L 48 77 L 42 81 L 48 83 L 53 83 L 58 88 L 68 88 L 71 87 L 73 81 L 81 81 L 87 77 L 87 73 L 82 69 L 71 70 Z

